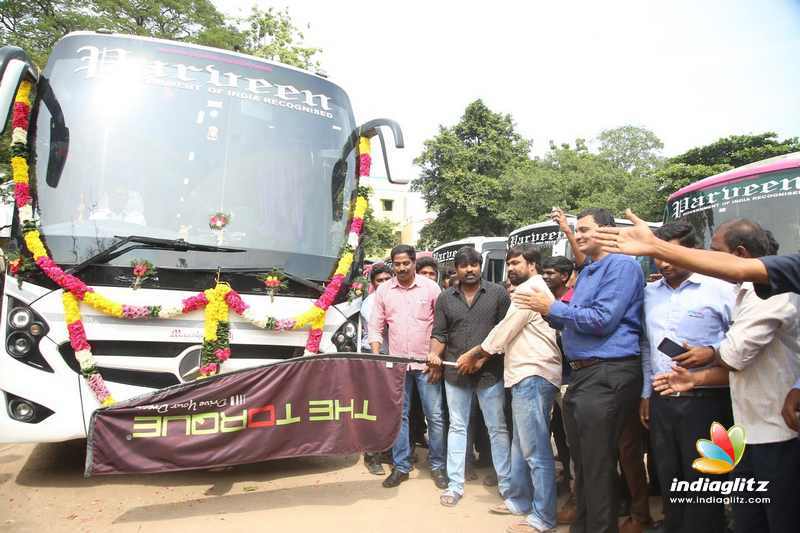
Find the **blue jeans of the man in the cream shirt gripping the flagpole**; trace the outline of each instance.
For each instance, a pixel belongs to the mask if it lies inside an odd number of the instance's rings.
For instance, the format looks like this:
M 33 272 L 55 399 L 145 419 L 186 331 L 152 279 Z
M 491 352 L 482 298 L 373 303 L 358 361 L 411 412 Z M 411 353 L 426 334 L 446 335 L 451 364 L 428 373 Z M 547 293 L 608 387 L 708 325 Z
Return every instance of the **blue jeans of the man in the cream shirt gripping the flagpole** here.
M 527 515 L 539 530 L 556 527 L 556 463 L 550 445 L 550 411 L 558 388 L 529 376 L 511 388 L 514 440 L 511 445 L 511 491 L 506 506 Z

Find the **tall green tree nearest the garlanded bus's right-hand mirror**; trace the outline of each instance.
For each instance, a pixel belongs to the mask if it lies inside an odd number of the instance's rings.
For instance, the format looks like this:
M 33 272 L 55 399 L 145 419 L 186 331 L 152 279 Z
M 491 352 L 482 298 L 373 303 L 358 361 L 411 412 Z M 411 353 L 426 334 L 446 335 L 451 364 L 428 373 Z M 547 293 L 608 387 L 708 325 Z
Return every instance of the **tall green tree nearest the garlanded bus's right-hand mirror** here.
M 414 163 L 422 168 L 412 183 L 438 217 L 422 230 L 420 246 L 467 235 L 505 235 L 510 199 L 503 178 L 528 159 L 530 141 L 514 131 L 511 115 L 491 111 L 481 100 L 469 104 L 455 126 L 439 127 Z

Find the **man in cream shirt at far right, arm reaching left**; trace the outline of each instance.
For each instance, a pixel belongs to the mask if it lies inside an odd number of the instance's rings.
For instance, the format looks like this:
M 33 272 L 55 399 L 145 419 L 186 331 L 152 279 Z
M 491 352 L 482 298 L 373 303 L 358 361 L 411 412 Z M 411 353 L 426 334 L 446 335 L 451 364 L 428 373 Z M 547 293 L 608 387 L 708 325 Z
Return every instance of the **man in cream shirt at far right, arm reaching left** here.
M 767 253 L 769 241 L 758 224 L 739 219 L 719 227 L 711 248 L 758 258 Z M 654 380 L 654 388 L 664 394 L 729 379 L 733 418 L 747 441 L 731 476 L 769 482 L 767 492 L 737 494 L 769 498 L 769 503 L 734 503 L 737 533 L 794 532 L 800 526 L 800 439 L 781 416 L 784 398 L 800 377 L 799 311 L 800 296 L 779 294 L 762 300 L 752 283 L 743 283 L 733 324 L 716 352 L 724 368 L 676 370 Z

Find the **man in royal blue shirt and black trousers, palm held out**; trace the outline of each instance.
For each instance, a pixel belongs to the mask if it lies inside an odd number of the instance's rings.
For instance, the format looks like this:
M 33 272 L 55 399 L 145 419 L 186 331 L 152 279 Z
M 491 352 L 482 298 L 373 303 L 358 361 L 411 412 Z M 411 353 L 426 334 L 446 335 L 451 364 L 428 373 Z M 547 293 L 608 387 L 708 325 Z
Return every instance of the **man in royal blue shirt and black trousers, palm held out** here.
M 575 461 L 577 513 L 572 533 L 618 531 L 618 443 L 642 388 L 644 279 L 636 260 L 603 251 L 595 239 L 600 227 L 613 225 L 607 209 L 578 214 L 576 244 L 589 259 L 569 304 L 544 292 L 514 297 L 518 307 L 541 313 L 562 331 L 573 369 L 564 397 L 567 441 Z M 623 530 L 641 531 L 641 525 L 631 520 Z

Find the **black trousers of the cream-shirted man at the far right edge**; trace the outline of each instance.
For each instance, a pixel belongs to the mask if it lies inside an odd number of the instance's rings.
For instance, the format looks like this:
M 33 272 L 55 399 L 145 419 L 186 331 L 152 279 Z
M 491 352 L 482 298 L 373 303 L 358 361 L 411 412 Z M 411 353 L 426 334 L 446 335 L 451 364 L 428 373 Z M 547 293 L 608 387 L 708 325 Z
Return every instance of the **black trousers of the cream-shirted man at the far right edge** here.
M 800 439 L 748 444 L 742 460 L 729 475 L 731 479 L 769 481 L 767 492 L 742 494 L 745 498 L 766 496 L 769 503 L 734 503 L 736 533 L 800 531 Z

